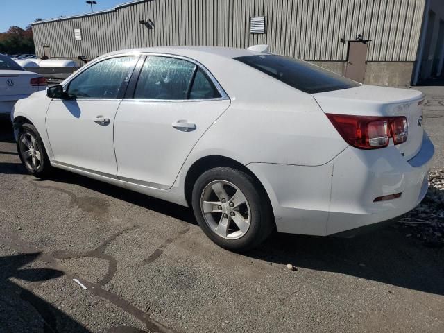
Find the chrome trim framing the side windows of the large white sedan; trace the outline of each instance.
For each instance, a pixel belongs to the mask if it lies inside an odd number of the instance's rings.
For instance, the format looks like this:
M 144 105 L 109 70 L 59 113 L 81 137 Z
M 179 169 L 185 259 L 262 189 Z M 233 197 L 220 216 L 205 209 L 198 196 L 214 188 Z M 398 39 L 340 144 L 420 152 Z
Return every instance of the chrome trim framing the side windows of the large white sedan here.
M 137 58 L 137 61 L 140 59 L 140 56 L 158 56 L 158 57 L 166 57 L 166 58 L 176 58 L 176 59 L 180 59 L 180 60 L 185 60 L 188 62 L 193 63 L 194 65 L 196 65 L 198 68 L 202 69 L 205 74 L 207 74 L 207 76 L 210 78 L 210 80 L 212 81 L 214 87 L 216 87 L 217 91 L 219 92 L 219 94 L 221 94 L 221 97 L 218 97 L 216 99 L 122 99 L 122 101 L 150 101 L 150 102 L 155 102 L 155 101 L 160 101 L 160 102 L 190 102 L 190 101 L 195 101 L 195 102 L 199 102 L 199 101 L 224 101 L 224 100 L 230 100 L 230 96 L 228 96 L 228 94 L 225 92 L 225 90 L 223 89 L 223 87 L 219 84 L 219 81 L 216 80 L 216 78 L 214 77 L 214 75 L 212 74 L 212 72 L 207 69 L 207 67 L 205 67 L 202 63 L 198 62 L 197 60 L 194 60 L 193 58 L 188 58 L 185 56 L 179 56 L 177 54 L 172 54 L 172 53 L 157 53 L 157 52 L 140 52 L 140 51 L 133 51 L 133 52 L 128 52 L 128 53 L 119 53 L 119 54 L 112 54 L 111 56 L 107 56 L 107 57 L 103 57 L 103 58 L 97 58 L 96 60 L 93 60 L 92 62 L 89 62 L 88 65 L 82 67 L 81 69 L 78 70 L 78 72 L 76 72 L 76 74 L 72 77 L 69 78 L 69 80 L 67 82 L 64 82 L 62 87 L 65 90 L 65 88 L 69 85 L 69 83 L 71 83 L 72 80 L 74 80 L 74 78 L 76 78 L 78 75 L 80 75 L 81 73 L 83 73 L 83 71 L 86 71 L 89 67 L 92 67 L 93 65 L 95 65 L 96 63 L 99 63 L 103 60 L 108 60 L 111 58 L 121 58 L 123 56 L 139 56 L 139 58 Z M 86 99 L 81 99 L 82 101 L 85 101 Z M 89 101 L 91 101 L 92 99 L 89 99 Z M 96 99 L 97 100 L 97 99 Z M 103 99 L 99 99 L 101 101 L 103 101 Z M 113 99 L 114 101 L 116 99 Z

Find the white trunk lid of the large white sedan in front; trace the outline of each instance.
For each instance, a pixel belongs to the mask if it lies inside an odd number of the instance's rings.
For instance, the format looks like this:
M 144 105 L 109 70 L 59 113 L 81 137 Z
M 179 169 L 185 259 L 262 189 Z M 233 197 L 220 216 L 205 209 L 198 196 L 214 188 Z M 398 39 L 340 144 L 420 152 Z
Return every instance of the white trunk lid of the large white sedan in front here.
M 398 144 L 406 160 L 413 158 L 422 146 L 422 103 L 424 94 L 413 89 L 361 85 L 350 89 L 312 94 L 325 113 L 358 116 L 407 118 L 407 141 Z M 390 146 L 393 145 L 391 139 Z

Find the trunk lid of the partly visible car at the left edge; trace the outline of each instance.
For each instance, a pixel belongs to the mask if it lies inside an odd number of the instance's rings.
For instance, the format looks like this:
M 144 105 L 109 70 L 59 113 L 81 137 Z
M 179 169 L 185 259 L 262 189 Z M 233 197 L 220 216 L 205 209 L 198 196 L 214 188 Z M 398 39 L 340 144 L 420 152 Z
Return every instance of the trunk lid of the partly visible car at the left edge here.
M 40 75 L 31 71 L 0 70 L 0 100 L 6 101 L 7 96 L 32 94 L 38 87 L 31 86 L 31 78 Z

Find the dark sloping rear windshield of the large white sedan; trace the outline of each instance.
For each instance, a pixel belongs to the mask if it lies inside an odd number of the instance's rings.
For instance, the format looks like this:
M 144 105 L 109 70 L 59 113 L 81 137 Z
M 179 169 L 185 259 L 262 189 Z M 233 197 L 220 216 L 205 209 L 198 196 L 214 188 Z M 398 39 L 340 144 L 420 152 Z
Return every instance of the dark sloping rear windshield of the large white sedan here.
M 264 54 L 234 58 L 308 94 L 359 87 L 359 83 L 302 60 Z

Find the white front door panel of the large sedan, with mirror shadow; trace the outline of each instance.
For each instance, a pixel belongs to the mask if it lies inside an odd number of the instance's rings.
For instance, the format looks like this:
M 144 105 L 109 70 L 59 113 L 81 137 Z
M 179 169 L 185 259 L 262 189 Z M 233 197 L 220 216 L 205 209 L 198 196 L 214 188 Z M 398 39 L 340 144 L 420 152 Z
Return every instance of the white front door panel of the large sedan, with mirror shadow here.
M 53 161 L 115 178 L 117 163 L 113 128 L 120 101 L 54 99 L 46 114 Z M 109 119 L 110 123 L 96 123 L 97 117 Z M 76 144 L 73 144 L 73 138 L 76 138 Z

